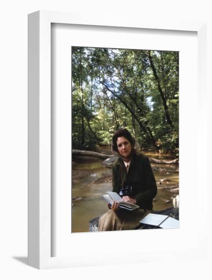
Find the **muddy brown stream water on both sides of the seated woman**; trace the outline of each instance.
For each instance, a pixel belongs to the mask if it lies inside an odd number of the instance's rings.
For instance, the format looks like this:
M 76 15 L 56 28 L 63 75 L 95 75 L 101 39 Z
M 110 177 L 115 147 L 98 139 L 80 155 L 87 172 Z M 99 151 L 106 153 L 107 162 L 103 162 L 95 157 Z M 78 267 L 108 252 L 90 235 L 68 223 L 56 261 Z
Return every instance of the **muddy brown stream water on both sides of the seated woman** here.
M 166 185 L 159 185 L 157 183 L 158 187 L 178 184 L 178 166 L 176 164 L 153 164 L 152 166 L 159 166 L 162 169 L 165 168 L 166 171 L 169 173 L 162 174 L 159 171 L 154 172 L 157 182 L 159 182 L 159 180 L 163 178 L 170 180 L 170 182 Z M 112 190 L 112 182 L 110 178 L 112 170 L 105 168 L 101 162 L 79 164 L 77 163 L 73 166 L 73 169 L 79 172 L 83 172 L 84 170 L 90 171 L 90 174 L 86 177 L 74 180 L 72 182 L 72 198 L 82 198 L 79 201 L 73 201 L 72 233 L 88 232 L 89 220 L 101 214 L 104 214 L 108 210 L 107 204 L 101 196 L 106 191 Z M 98 181 L 98 179 L 102 178 L 103 176 L 107 176 L 107 178 L 109 178 L 107 182 L 95 183 L 95 181 Z M 156 202 L 154 202 L 154 210 L 162 210 L 172 207 L 173 204 L 171 197 L 173 196 L 173 192 L 158 189 Z M 162 199 L 170 200 L 171 202 L 165 204 Z

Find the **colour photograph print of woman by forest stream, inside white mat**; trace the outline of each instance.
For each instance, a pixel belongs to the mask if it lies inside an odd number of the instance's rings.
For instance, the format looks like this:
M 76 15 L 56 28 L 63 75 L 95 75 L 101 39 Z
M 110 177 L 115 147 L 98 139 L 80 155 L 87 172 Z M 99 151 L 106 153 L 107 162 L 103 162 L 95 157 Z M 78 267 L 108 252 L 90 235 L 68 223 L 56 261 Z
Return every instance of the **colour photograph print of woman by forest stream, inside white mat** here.
M 179 228 L 179 52 L 72 46 L 72 233 Z

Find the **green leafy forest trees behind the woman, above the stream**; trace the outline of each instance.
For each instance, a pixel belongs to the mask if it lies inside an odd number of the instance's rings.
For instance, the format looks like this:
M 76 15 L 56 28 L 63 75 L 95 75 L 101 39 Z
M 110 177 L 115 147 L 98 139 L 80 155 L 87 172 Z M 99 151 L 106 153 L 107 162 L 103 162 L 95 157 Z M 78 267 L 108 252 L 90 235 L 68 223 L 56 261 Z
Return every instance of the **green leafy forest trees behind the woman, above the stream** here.
M 72 148 L 109 146 L 127 128 L 141 148 L 178 155 L 177 51 L 72 47 Z

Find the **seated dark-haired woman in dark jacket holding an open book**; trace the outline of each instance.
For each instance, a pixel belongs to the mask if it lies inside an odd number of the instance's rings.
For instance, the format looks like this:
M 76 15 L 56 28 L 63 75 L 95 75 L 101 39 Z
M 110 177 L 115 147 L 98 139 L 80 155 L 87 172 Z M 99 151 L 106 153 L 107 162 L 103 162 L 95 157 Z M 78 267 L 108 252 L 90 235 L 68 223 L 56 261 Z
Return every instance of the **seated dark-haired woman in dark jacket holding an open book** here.
M 137 204 L 134 211 L 118 208 L 117 203 L 102 215 L 98 231 L 131 230 L 153 209 L 157 194 L 156 180 L 148 157 L 141 155 L 138 144 L 127 129 L 119 129 L 112 137 L 112 151 L 118 159 L 112 166 L 112 186 L 123 201 Z M 110 207 L 109 207 L 110 208 Z

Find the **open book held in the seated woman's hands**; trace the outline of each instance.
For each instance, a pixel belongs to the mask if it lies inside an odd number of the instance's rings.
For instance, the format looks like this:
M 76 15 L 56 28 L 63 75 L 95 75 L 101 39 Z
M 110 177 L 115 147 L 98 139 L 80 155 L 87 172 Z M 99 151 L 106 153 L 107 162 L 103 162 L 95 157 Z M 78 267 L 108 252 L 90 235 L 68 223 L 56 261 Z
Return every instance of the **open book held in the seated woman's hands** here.
M 119 194 L 112 191 L 107 191 L 106 194 L 102 195 L 102 197 L 110 204 L 113 205 L 114 202 L 117 202 L 118 206 L 130 211 L 133 211 L 137 208 L 139 208 L 138 205 L 130 203 L 130 202 L 124 202 L 122 201 L 122 198 Z

